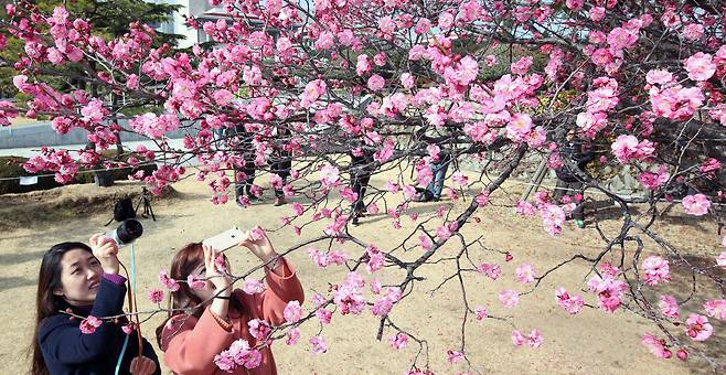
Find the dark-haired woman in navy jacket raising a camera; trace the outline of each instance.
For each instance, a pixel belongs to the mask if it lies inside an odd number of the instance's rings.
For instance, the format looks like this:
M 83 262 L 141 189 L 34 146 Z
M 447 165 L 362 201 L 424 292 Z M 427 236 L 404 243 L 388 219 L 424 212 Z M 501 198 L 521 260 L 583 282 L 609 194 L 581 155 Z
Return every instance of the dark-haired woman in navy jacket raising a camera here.
M 161 374 L 146 340 L 138 356 L 136 330 L 124 351 L 125 318 L 104 319 L 124 313 L 126 278 L 118 275 L 114 240 L 94 235 L 89 243 L 93 249 L 82 243 L 57 244 L 43 256 L 31 374 Z

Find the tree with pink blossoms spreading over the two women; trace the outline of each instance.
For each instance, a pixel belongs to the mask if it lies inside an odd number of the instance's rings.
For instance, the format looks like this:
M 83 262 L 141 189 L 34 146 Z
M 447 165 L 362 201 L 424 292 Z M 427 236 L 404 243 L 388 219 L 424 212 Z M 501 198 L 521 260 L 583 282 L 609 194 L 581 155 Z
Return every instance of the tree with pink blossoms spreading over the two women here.
M 139 158 L 128 163 L 160 165 L 150 175 L 139 172 L 131 179 L 160 192 L 186 175 L 182 163 L 194 160 L 200 165 L 196 179 L 209 184 L 215 204 L 224 204 L 236 169 L 253 163 L 269 170 L 270 153 L 291 152 L 298 162 L 290 181 L 273 174 L 270 186 L 255 185 L 252 191 L 259 195 L 277 188 L 287 196 L 303 196 L 291 205 L 292 215 L 282 218 L 284 225 L 300 234 L 309 224 L 322 222 L 324 233 L 285 254 L 305 250 L 321 268 L 346 267 L 350 274 L 344 280 L 331 280 L 332 290 L 314 296 L 311 304 L 288 306 L 288 323 L 263 324 L 254 331 L 260 339 L 295 344 L 300 324 L 324 324 L 335 314 L 372 313 L 381 321 L 378 340 L 385 333 L 391 346 L 401 349 L 426 343 L 389 317 L 402 299 L 415 298 L 413 286 L 423 269 L 456 265 L 441 285 L 458 280 L 463 296 L 465 279 L 472 275 L 504 277 L 497 261 L 505 251 L 484 246 L 485 235 L 467 239 L 461 229 L 476 219 L 476 213 L 487 215 L 487 206 L 497 204 L 495 191 L 527 161 L 546 159 L 546 168 L 567 169 L 588 191 L 613 201 L 620 211 L 620 231 L 605 233 L 596 222 L 602 238 L 598 254 L 564 255 L 549 269 L 538 269 L 531 259 L 533 265 L 516 268 L 515 280 L 535 289 L 566 264 L 590 265 L 583 293 L 557 288 L 553 303 L 568 314 L 585 308 L 604 313 L 629 310 L 652 322 L 641 335 L 654 355 L 669 358 L 676 352 L 685 361 L 690 353 L 698 353 L 714 368 L 723 366 L 704 345 L 714 332 L 709 321 L 726 318 L 726 237 L 712 238 L 719 256 L 694 262 L 653 229 L 660 219 L 659 204 L 671 201 L 679 189 L 686 190 L 681 205 L 694 221 L 723 226 L 726 9 L 722 2 L 210 2 L 229 17 L 204 23 L 188 19 L 190 28 L 203 30 L 215 42 L 190 52 L 152 47 L 154 31 L 148 25 L 131 24 L 126 35 L 104 40 L 64 8 L 44 14 L 25 2 L 8 6 L 0 46 L 7 38 L 24 41 L 13 82 L 26 99 L 0 101 L 0 124 L 8 125 L 19 114 L 50 116 L 58 132 L 83 128 L 97 146 L 73 152 L 44 148 L 25 169 L 53 171 L 57 180 L 70 181 L 79 167 L 102 161 L 99 150 L 114 144 L 114 133 L 129 131 L 148 137 L 156 147 L 139 147 L 135 150 Z M 83 72 L 68 79 L 100 89 L 58 90 L 35 78 L 64 65 L 77 65 Z M 111 93 L 124 93 L 127 103 L 109 103 Z M 127 116 L 125 106 L 141 108 L 141 114 Z M 224 131 L 239 125 L 253 135 L 248 148 Z M 173 147 L 166 135 L 180 129 L 186 133 L 183 147 Z M 637 171 L 647 196 L 636 202 L 575 168 L 560 152 L 568 129 L 592 144 L 599 168 L 628 165 Z M 484 172 L 471 178 L 455 171 L 453 188 L 445 194 L 460 204 L 418 217 L 410 210 L 417 188 L 433 181 L 433 165 L 445 153 L 453 160 L 472 160 Z M 394 175 L 385 186 L 370 189 L 369 213 L 383 210 L 392 231 L 403 228 L 406 216 L 417 223 L 397 246 L 365 243 L 349 232 L 350 205 L 359 199 L 349 184 L 349 156 L 366 154 L 372 156 L 367 168 L 373 173 Z M 556 236 L 566 231 L 564 223 L 580 200 L 581 195 L 555 200 L 541 191 L 512 210 L 541 217 L 543 231 Z M 247 197 L 239 203 L 249 205 Z M 634 214 L 636 204 L 644 215 Z M 330 239 L 357 250 L 339 251 Z M 321 249 L 313 246 L 317 243 L 330 245 Z M 459 250 L 442 258 L 444 246 Z M 511 260 L 509 253 L 505 256 Z M 488 260 L 474 262 L 474 258 Z M 676 278 L 672 272 L 676 265 L 687 268 L 693 292 L 659 293 L 659 286 Z M 375 274 L 392 269 L 402 270 L 403 277 L 382 287 Z M 170 288 L 188 282 L 168 277 L 162 281 Z M 245 282 L 247 292 L 260 288 L 258 281 Z M 716 290 L 720 299 L 698 294 L 704 288 Z M 150 296 L 158 301 L 160 292 Z M 514 310 L 526 298 L 525 291 L 514 289 L 497 294 L 503 307 Z M 701 301 L 701 308 L 686 313 L 682 306 L 693 300 Z M 488 307 L 471 306 L 466 297 L 463 308 L 462 324 L 490 318 Z M 327 351 L 324 331 L 308 342 L 314 353 Z M 536 328 L 523 326 L 512 331 L 512 342 L 538 347 L 546 345 L 546 338 Z M 244 358 L 239 363 L 234 361 L 237 354 Z M 247 342 L 235 342 L 220 354 L 218 364 L 227 369 L 250 368 L 258 363 L 257 355 Z M 446 355 L 452 363 L 470 360 L 463 339 Z M 418 372 L 417 366 L 420 363 L 412 364 L 412 373 Z

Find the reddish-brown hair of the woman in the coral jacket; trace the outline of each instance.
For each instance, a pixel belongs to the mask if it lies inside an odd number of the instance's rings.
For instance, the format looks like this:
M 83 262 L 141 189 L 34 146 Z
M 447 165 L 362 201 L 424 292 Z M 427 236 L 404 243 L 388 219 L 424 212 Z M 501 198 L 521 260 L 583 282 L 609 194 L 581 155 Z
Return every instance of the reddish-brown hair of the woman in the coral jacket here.
M 181 248 L 171 260 L 171 268 L 169 269 L 169 278 L 183 281 L 179 282 L 179 290 L 169 293 L 169 307 L 171 309 L 194 309 L 192 315 L 200 318 L 204 312 L 201 308 L 202 300 L 194 296 L 192 289 L 186 283 L 186 278 L 199 266 L 204 265 L 204 250 L 201 243 L 191 243 Z M 233 298 L 229 300 L 229 308 L 239 309 L 239 304 Z M 157 343 L 161 347 L 161 334 L 163 333 L 164 325 L 173 318 L 183 313 L 182 311 L 169 312 L 167 319 L 157 328 Z

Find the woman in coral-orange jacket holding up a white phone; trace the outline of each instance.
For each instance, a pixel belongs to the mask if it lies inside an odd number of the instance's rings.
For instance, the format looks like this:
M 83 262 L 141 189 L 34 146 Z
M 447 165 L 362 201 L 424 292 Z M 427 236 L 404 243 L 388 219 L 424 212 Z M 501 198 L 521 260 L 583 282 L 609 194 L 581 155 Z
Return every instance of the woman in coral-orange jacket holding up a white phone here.
M 246 340 L 250 347 L 257 347 L 261 360 L 254 368 L 238 366 L 232 369 L 232 374 L 277 374 L 269 344 L 256 339 L 248 323 L 285 323 L 282 311 L 287 303 L 298 301 L 302 304 L 305 294 L 292 265 L 275 253 L 261 229 L 257 231 L 263 234 L 261 238 L 254 239 L 247 233 L 239 246 L 248 248 L 267 264 L 267 288 L 259 293 L 232 290 L 228 272 L 217 269 L 217 254 L 207 246 L 189 244 L 174 256 L 169 277 L 185 282 L 179 282 L 179 290 L 171 293 L 175 312 L 157 329 L 157 340 L 164 352 L 164 363 L 175 374 L 228 374 L 218 368 L 214 360 L 239 339 Z M 190 275 L 206 281 L 194 289 L 186 282 Z M 189 313 L 177 309 L 185 309 Z

